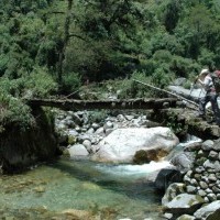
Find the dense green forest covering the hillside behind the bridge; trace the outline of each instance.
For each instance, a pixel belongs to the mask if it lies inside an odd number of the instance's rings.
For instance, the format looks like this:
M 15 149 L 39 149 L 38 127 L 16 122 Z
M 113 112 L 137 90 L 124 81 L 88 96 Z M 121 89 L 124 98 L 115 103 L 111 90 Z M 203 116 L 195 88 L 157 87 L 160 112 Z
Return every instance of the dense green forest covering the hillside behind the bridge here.
M 220 68 L 218 0 L 1 0 L 0 21 L 0 131 L 33 123 L 24 98 L 107 81 L 143 97 L 133 78 L 187 87 Z

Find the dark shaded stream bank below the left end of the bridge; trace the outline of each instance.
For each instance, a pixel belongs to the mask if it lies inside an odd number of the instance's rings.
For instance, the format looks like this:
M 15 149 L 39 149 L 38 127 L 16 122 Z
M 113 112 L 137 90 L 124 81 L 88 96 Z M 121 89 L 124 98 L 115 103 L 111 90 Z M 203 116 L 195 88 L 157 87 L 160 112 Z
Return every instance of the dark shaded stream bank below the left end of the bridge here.
M 6 173 L 21 172 L 62 153 L 54 124 L 46 113 L 41 108 L 33 109 L 32 113 L 35 123 L 29 129 L 8 124 L 0 134 L 0 164 Z

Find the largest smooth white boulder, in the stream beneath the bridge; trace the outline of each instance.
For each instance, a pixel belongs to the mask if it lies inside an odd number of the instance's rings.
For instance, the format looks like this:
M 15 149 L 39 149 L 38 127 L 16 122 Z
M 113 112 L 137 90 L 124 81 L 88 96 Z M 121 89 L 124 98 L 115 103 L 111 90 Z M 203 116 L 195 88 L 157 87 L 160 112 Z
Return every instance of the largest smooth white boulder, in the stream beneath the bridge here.
M 99 151 L 92 158 L 99 162 L 131 163 L 140 150 L 169 153 L 178 143 L 178 138 L 168 128 L 117 129 L 99 143 Z

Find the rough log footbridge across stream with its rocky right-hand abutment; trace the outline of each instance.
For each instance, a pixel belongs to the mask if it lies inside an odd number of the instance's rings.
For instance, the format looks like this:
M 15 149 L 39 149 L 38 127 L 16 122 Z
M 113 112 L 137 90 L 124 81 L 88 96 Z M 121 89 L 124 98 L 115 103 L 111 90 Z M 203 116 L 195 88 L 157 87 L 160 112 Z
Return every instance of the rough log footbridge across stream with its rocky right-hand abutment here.
M 196 118 L 198 105 L 186 102 L 178 98 L 163 99 L 129 99 L 129 100 L 76 100 L 76 99 L 26 99 L 28 105 L 34 107 L 53 107 L 62 110 L 95 110 L 95 109 L 142 109 L 147 110 L 150 120 L 160 122 L 162 125 L 167 123 L 182 124 L 187 128 L 187 132 L 201 138 L 220 138 L 220 128 L 207 121 Z M 169 121 L 170 120 L 170 121 Z

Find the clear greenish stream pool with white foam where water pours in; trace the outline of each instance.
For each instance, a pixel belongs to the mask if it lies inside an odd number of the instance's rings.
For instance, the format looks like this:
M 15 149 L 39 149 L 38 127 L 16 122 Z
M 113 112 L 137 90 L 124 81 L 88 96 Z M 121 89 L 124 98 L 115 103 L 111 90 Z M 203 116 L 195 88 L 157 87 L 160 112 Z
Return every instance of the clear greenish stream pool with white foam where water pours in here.
M 63 158 L 25 174 L 2 176 L 0 219 L 160 220 L 161 195 L 143 182 L 160 165 Z

